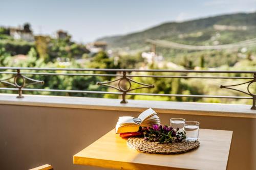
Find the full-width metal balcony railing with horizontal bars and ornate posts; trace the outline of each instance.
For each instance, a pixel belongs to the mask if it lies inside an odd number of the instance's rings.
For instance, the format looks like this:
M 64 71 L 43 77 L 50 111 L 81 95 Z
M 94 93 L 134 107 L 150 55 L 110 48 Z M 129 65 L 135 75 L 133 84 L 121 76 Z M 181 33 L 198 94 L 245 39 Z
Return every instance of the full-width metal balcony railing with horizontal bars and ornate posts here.
M 191 97 L 191 98 L 225 98 L 225 99 L 250 99 L 252 100 L 251 109 L 256 110 L 256 94 L 253 94 L 249 86 L 256 82 L 256 71 L 212 71 L 212 70 L 166 70 L 166 69 L 96 69 L 96 68 L 33 68 L 33 67 L 0 67 L 0 74 L 9 74 L 11 77 L 0 80 L 0 83 L 11 85 L 14 88 L 5 88 L 2 87 L 0 90 L 17 90 L 17 98 L 23 98 L 23 91 L 52 91 L 52 92 L 76 92 L 76 93 L 96 93 L 96 94 L 118 94 L 122 96 L 121 103 L 127 103 L 126 95 L 153 95 L 153 96 L 174 96 L 174 97 Z M 6 71 L 11 70 L 11 71 Z M 25 72 L 25 70 L 27 70 Z M 29 72 L 29 71 L 36 72 Z M 55 72 L 40 72 L 40 71 L 55 71 Z M 67 71 L 67 72 L 56 72 L 56 71 Z M 68 71 L 84 71 L 90 73 L 69 73 Z M 116 74 L 96 74 L 95 72 L 104 71 L 104 72 L 115 72 Z M 92 73 L 91 73 L 92 72 Z M 121 74 L 119 74 L 121 72 Z M 249 74 L 253 77 L 232 77 L 232 76 L 173 76 L 173 75 L 134 75 L 131 72 L 151 72 L 151 73 L 208 73 L 208 74 Z M 32 84 L 44 84 L 44 81 L 34 80 L 25 75 L 55 75 L 55 76 L 101 76 L 101 77 L 116 77 L 115 80 L 106 81 L 106 82 L 97 82 L 97 85 L 110 87 L 116 89 L 118 92 L 114 91 L 87 91 L 87 90 L 61 90 L 61 89 L 35 89 L 35 88 L 26 88 Z M 131 91 L 142 88 L 154 88 L 153 84 L 144 84 L 133 80 L 134 77 L 144 77 L 144 78 L 185 78 L 185 79 L 248 79 L 243 83 L 234 84 L 234 85 L 220 85 L 220 88 L 226 88 L 231 90 L 236 90 L 241 93 L 244 93 L 248 96 L 225 96 L 225 95 L 193 95 L 193 94 L 158 94 L 158 93 L 133 93 Z M 13 83 L 10 80 L 13 79 Z M 18 83 L 18 79 L 19 81 Z M 31 81 L 31 83 L 27 83 Z M 128 86 L 123 88 L 121 82 L 126 81 Z M 117 83 L 117 86 L 111 85 L 111 83 Z M 140 87 L 133 88 L 132 83 L 141 85 Z M 239 86 L 247 84 L 247 91 L 239 90 L 233 88 L 234 86 Z

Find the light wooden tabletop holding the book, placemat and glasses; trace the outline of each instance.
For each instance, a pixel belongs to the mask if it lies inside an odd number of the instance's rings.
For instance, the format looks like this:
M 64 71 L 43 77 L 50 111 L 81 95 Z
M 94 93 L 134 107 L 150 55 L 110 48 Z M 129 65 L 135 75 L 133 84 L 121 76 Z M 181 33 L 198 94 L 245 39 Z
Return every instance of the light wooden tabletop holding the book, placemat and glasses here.
M 226 169 L 232 131 L 200 129 L 200 147 L 179 155 L 146 154 L 130 149 L 115 130 L 74 155 L 74 164 L 114 169 Z

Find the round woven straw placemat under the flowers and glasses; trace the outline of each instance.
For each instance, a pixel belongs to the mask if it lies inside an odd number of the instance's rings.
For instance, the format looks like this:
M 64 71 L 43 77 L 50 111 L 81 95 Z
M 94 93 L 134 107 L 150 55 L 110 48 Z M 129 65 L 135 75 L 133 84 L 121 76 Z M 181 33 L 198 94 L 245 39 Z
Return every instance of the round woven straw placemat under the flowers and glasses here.
M 150 154 L 181 154 L 199 147 L 199 141 L 187 141 L 175 143 L 159 143 L 144 140 L 141 137 L 130 137 L 127 140 L 128 147 Z

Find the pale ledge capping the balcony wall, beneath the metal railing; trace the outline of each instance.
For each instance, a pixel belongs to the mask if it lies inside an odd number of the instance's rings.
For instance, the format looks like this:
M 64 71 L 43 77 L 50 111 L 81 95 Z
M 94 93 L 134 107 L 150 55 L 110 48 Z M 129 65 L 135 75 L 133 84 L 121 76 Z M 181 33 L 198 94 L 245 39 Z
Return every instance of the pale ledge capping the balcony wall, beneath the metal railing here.
M 16 96 L 17 94 L 0 94 L 0 104 L 134 112 L 153 108 L 158 113 L 256 118 L 256 110 L 251 110 L 250 105 L 142 100 L 129 100 L 127 104 L 120 104 L 120 99 L 49 95 L 24 95 L 25 98 L 17 99 Z

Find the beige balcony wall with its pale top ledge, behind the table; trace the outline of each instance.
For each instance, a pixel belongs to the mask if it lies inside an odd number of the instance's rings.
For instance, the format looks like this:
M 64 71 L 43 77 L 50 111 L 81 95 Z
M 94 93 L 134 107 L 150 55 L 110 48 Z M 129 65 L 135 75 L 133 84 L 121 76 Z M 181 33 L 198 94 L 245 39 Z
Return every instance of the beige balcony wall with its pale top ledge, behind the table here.
M 0 169 L 102 169 L 73 164 L 73 155 L 115 127 L 119 116 L 153 108 L 163 124 L 172 117 L 200 128 L 232 130 L 228 169 L 256 169 L 256 111 L 248 105 L 129 101 L 0 94 Z M 200 135 L 200 134 L 199 134 Z M 103 146 L 102 146 L 103 147 Z

